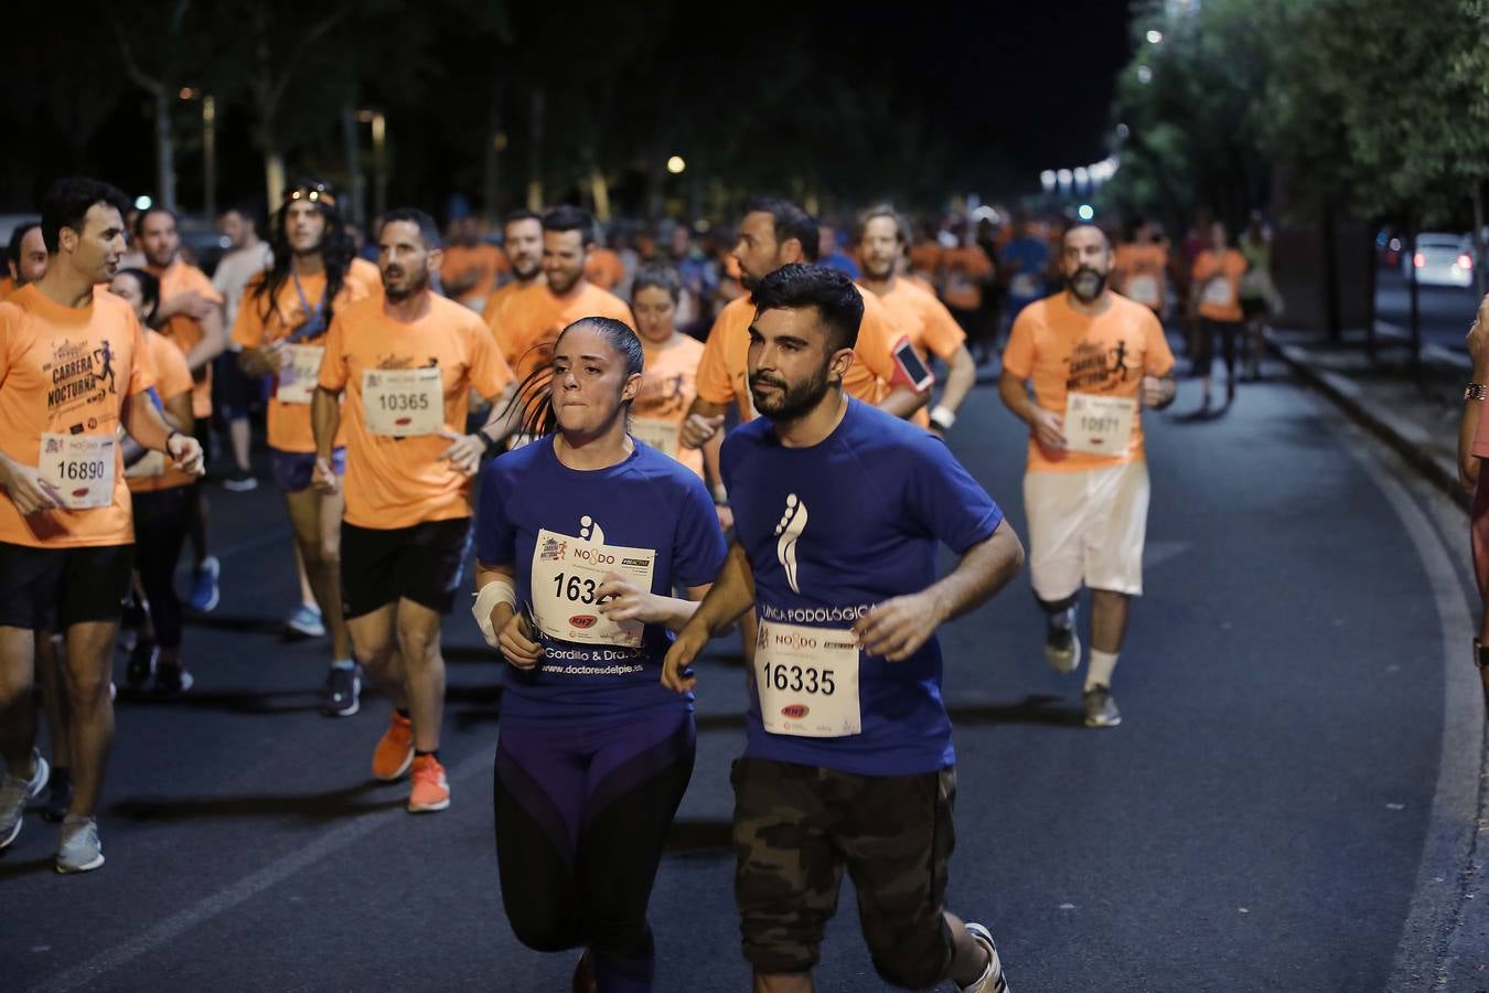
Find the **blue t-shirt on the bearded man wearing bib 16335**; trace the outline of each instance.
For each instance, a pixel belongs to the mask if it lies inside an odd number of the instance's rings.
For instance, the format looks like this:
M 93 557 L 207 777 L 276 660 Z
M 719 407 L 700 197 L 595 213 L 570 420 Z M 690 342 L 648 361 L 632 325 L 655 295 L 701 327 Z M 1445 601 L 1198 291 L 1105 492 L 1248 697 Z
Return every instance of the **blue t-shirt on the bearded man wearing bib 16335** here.
M 852 399 L 810 448 L 783 447 L 767 418 L 744 424 L 724 441 L 722 475 L 767 622 L 847 630 L 873 604 L 935 582 L 938 542 L 962 554 L 1004 520 L 938 438 Z M 747 756 L 862 776 L 954 761 L 935 637 L 902 662 L 859 652 L 859 734 L 768 732 L 753 673 L 749 695 Z

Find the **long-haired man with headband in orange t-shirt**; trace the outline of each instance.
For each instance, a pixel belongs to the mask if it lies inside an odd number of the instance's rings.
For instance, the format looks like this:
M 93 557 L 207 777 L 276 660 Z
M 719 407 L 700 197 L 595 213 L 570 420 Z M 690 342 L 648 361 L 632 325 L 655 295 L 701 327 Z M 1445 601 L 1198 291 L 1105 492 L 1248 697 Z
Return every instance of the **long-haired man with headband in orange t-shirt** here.
M 331 633 L 331 668 L 320 707 L 328 718 L 357 712 L 362 679 L 341 618 L 341 494 L 323 494 L 311 485 L 316 435 L 310 405 L 331 322 L 354 301 L 374 295 L 365 275 L 359 278 L 353 271 L 351 246 L 335 237 L 339 225 L 334 191 L 323 183 L 290 189 L 274 220 L 274 266 L 249 284 L 232 325 L 244 371 L 272 377 L 267 411 L 270 466 L 284 491 L 301 576 L 301 604 L 286 627 Z M 375 274 L 377 266 L 363 265 Z M 344 439 L 338 442 L 332 467 L 342 472 Z

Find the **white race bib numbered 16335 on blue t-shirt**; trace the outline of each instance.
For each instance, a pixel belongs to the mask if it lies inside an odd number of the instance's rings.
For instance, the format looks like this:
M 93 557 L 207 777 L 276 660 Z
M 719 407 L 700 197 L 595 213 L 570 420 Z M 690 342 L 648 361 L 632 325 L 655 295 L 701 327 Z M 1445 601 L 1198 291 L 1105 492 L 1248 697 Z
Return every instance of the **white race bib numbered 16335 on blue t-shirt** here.
M 771 734 L 841 738 L 864 731 L 852 631 L 759 621 L 755 691 Z

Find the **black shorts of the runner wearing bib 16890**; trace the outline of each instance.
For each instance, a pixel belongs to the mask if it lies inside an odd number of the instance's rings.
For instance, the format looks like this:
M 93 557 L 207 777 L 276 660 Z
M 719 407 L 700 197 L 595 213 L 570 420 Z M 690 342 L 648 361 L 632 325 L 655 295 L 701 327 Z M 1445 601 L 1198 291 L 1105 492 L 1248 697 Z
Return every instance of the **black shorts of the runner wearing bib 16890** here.
M 0 627 L 63 631 L 118 621 L 134 545 L 31 548 L 0 542 Z

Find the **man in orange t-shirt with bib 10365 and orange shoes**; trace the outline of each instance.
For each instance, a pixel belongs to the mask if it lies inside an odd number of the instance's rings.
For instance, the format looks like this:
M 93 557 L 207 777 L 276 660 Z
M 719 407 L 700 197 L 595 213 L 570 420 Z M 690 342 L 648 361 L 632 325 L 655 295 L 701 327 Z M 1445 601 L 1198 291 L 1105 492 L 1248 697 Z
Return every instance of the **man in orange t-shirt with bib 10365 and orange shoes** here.
M 439 621 L 471 548 L 471 478 L 497 444 L 493 421 L 512 386 L 481 319 L 430 292 L 439 262 L 429 214 L 384 216 L 384 293 L 331 322 L 311 412 L 323 493 L 341 488 L 332 451 L 345 414 L 341 598 L 357 661 L 393 701 L 372 774 L 395 780 L 412 770 L 409 813 L 450 805 L 439 764 Z M 491 403 L 491 418 L 463 435 L 471 390 Z

